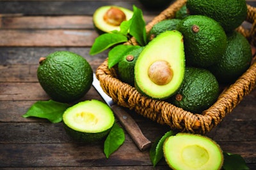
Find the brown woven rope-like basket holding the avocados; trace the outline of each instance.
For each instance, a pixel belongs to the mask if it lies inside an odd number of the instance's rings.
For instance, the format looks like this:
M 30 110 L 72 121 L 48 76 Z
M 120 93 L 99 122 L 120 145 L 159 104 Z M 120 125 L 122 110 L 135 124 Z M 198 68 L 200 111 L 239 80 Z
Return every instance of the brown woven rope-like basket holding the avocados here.
M 152 26 L 166 18 L 174 18 L 186 0 L 178 0 L 162 11 L 146 26 L 147 32 Z M 240 26 L 237 31 L 245 36 L 252 46 L 256 46 L 256 8 L 248 5 L 246 21 L 252 24 L 250 30 Z M 137 45 L 136 39 L 131 38 L 127 44 Z M 165 101 L 151 99 L 140 94 L 134 87 L 123 83 L 117 78 L 115 67 L 108 69 L 108 58 L 97 68 L 97 78 L 104 92 L 113 98 L 120 106 L 136 111 L 143 117 L 161 124 L 169 125 L 171 129 L 182 132 L 205 134 L 212 127 L 220 124 L 221 120 L 239 104 L 243 97 L 248 95 L 256 83 L 256 62 L 237 81 L 221 92 L 216 103 L 202 113 L 191 113 L 182 110 Z

